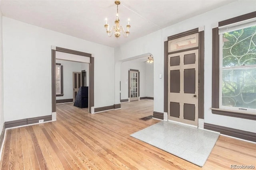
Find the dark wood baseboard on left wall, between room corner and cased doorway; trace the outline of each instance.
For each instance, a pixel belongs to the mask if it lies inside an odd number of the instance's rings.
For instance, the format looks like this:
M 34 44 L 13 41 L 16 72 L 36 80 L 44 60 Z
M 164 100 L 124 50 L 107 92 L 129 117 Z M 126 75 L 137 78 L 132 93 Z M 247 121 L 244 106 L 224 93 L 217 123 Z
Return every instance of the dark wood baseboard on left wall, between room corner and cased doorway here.
M 14 121 L 6 121 L 5 128 L 39 123 L 39 120 L 42 120 L 42 119 L 44 120 L 44 122 L 51 121 L 52 115 L 32 117 L 32 118 L 28 118 L 28 119 L 20 119 L 20 120 L 14 120 Z

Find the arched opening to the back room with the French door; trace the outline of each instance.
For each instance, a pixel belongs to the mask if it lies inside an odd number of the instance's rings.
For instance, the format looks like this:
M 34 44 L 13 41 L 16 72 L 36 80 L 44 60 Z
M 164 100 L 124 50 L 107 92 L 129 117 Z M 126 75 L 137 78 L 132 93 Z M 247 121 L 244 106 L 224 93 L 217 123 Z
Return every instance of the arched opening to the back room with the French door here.
M 136 100 L 154 100 L 154 62 L 147 62 L 150 56 L 152 55 L 147 53 L 122 62 L 120 72 L 121 105 L 123 102 Z

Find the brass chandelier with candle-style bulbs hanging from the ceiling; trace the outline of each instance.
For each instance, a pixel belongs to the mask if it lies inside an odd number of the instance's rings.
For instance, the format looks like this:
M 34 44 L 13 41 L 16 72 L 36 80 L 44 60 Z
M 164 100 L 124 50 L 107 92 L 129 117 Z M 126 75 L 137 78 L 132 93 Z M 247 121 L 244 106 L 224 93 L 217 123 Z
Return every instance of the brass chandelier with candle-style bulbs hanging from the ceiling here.
M 106 31 L 108 33 L 108 36 L 111 37 L 113 35 L 113 32 L 115 32 L 115 37 L 116 38 L 119 38 L 120 35 L 121 35 L 121 32 L 123 33 L 123 35 L 125 37 L 128 37 L 129 35 L 129 28 L 131 27 L 130 25 L 130 19 L 128 19 L 128 25 L 126 25 L 126 28 L 127 28 L 127 31 L 124 31 L 124 27 L 122 27 L 121 25 L 119 25 L 120 23 L 120 20 L 119 20 L 119 17 L 118 17 L 118 5 L 121 4 L 121 2 L 119 0 L 116 0 L 115 1 L 115 4 L 117 6 L 117 13 L 116 13 L 116 20 L 115 20 L 115 24 L 110 30 L 109 30 L 109 25 L 107 23 L 108 19 L 106 18 L 106 24 L 104 25 L 104 27 L 106 28 Z M 111 33 L 112 32 L 112 33 Z M 111 34 L 110 34 L 111 33 Z

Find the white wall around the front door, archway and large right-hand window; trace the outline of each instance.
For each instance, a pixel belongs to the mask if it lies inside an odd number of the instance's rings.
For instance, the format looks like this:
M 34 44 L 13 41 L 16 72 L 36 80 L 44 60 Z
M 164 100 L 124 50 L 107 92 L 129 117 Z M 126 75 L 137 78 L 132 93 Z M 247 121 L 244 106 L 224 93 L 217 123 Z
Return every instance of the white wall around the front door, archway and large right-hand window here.
M 237 10 L 238 7 L 239 10 Z M 115 48 L 116 65 L 118 67 L 118 61 L 120 60 L 144 53 L 151 53 L 154 56 L 154 93 L 157 94 L 154 96 L 154 111 L 163 113 L 164 78 L 159 78 L 159 74 L 162 74 L 163 77 L 164 41 L 167 41 L 167 37 L 170 35 L 204 26 L 204 122 L 255 133 L 256 125 L 254 120 L 216 115 L 212 114 L 210 110 L 212 105 L 212 25 L 216 25 L 218 21 L 254 12 L 255 10 L 256 1 L 246 1 L 246 3 L 245 1 L 236 1 L 144 37 L 140 37 Z M 115 86 L 118 85 L 118 81 L 120 81 L 120 76 L 115 74 Z M 115 92 L 115 98 L 118 97 L 117 92 L 118 91 Z

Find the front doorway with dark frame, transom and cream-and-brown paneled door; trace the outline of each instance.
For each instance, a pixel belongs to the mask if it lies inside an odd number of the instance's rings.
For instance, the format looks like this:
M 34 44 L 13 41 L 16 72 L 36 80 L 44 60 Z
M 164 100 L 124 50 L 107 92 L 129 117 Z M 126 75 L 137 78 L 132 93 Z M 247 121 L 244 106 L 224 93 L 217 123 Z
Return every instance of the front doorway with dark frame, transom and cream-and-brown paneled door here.
M 164 42 L 164 114 L 168 121 L 203 128 L 204 31 L 192 29 Z

